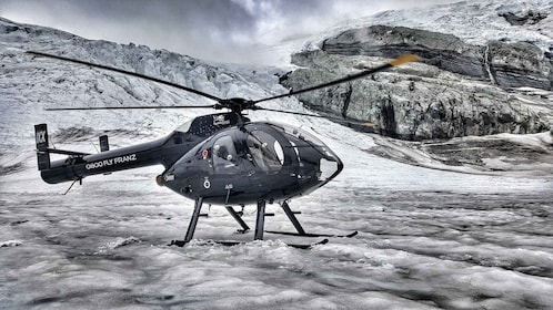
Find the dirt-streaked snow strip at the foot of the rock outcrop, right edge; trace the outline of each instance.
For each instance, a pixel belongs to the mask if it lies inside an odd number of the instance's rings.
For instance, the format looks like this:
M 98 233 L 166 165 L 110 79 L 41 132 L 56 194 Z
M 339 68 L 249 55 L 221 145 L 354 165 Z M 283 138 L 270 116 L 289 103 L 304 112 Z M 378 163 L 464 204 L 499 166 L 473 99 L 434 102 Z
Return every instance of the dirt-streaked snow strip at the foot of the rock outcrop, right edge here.
M 551 176 L 553 135 L 496 134 L 465 136 L 449 141 L 405 142 L 371 135 L 378 147 L 370 153 L 402 163 L 467 174 Z M 502 145 L 503 151 L 491 147 Z M 450 163 L 455 164 L 450 164 Z

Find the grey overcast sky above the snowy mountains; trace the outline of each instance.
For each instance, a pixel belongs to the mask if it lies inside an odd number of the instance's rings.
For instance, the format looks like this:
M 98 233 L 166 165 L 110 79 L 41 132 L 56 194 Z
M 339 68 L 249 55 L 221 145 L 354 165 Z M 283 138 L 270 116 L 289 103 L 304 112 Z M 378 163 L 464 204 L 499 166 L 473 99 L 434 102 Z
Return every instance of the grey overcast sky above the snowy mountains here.
M 345 19 L 456 0 L 1 0 L 0 17 L 222 62 Z M 262 61 L 261 61 L 262 62 Z

